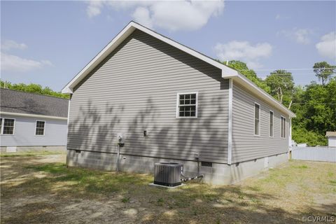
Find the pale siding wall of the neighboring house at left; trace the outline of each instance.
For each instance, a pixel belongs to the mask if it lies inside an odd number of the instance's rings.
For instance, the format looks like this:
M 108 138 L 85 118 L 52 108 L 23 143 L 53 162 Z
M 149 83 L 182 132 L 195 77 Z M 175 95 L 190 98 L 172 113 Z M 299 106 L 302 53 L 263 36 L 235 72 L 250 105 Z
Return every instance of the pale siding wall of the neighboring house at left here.
M 1 116 L 14 118 L 14 134 L 1 134 L 0 146 L 65 146 L 66 120 L 29 118 L 22 116 Z M 36 120 L 45 121 L 45 135 L 35 135 Z

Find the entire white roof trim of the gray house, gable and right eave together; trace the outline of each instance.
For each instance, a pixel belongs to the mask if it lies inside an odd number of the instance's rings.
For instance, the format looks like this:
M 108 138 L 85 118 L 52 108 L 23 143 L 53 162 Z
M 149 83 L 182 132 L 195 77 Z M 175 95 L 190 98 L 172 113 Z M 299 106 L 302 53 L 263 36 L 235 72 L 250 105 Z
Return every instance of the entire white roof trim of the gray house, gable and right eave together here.
M 151 35 L 155 38 L 158 38 L 161 41 L 164 41 L 165 43 L 168 43 L 169 45 L 174 46 L 175 48 L 178 48 L 179 50 L 183 50 L 184 52 L 187 52 L 189 55 L 193 55 L 194 57 L 197 57 L 198 59 L 202 59 L 204 62 L 207 62 L 213 66 L 216 66 L 218 69 L 221 69 L 222 71 L 222 78 L 232 78 L 235 80 L 235 82 L 244 85 L 248 87 L 248 90 L 253 92 L 254 94 L 257 94 L 258 96 L 262 97 L 266 102 L 273 105 L 275 108 L 279 109 L 279 111 L 282 111 L 283 113 L 286 113 L 291 118 L 295 117 L 295 114 L 286 108 L 286 106 L 283 106 L 280 102 L 276 101 L 273 97 L 271 97 L 267 92 L 260 89 L 257 85 L 255 85 L 251 80 L 246 78 L 244 75 L 236 71 L 235 69 L 232 69 L 228 66 L 225 66 L 224 64 L 217 62 L 216 60 L 207 57 L 203 55 L 200 52 L 197 52 L 196 50 L 193 50 L 191 48 L 186 47 L 185 45 L 182 45 L 181 43 L 177 43 L 176 41 L 173 41 L 170 38 L 167 38 L 165 36 L 162 36 L 161 34 L 156 33 L 155 31 L 148 29 L 142 25 L 139 25 L 137 22 L 131 21 L 120 33 L 113 38 L 113 40 L 105 46 L 105 48 L 96 55 L 66 86 L 63 88 L 63 93 L 73 93 L 73 87 L 76 87 L 80 80 L 83 80 L 85 76 L 87 76 L 94 67 L 96 67 L 104 58 L 106 58 L 114 49 L 120 45 L 120 43 L 123 43 L 125 38 L 130 36 L 132 32 L 135 29 L 139 29 L 141 31 L 144 31 L 146 34 Z

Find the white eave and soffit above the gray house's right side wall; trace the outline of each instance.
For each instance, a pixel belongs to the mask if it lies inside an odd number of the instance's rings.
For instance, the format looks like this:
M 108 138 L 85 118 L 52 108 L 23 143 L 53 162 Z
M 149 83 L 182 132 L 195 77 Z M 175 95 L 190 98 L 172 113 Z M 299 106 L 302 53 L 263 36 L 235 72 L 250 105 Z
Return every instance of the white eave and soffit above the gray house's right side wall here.
M 226 78 L 226 77 L 225 77 Z M 279 111 L 285 113 L 289 116 L 289 118 L 295 118 L 295 113 L 290 111 L 286 108 L 286 106 L 283 106 L 280 102 L 276 101 L 271 95 L 269 95 L 267 92 L 262 90 L 260 87 L 255 85 L 251 80 L 246 78 L 244 75 L 241 75 L 239 73 L 239 76 L 232 76 L 232 79 L 239 83 L 240 85 L 246 87 L 246 89 L 250 90 L 254 94 L 256 94 L 261 99 L 264 99 L 265 102 L 269 103 L 270 105 L 274 106 L 274 108 L 278 109 Z

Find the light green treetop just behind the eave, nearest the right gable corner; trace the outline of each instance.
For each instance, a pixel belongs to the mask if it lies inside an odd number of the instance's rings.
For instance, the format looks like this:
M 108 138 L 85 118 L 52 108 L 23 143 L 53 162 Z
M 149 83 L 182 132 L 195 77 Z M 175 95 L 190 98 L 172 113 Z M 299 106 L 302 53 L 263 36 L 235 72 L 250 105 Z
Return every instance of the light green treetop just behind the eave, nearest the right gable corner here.
M 226 65 L 225 62 L 223 62 L 223 64 Z M 232 69 L 235 69 L 235 70 L 239 71 L 241 74 L 246 76 L 246 78 L 248 78 L 253 83 L 255 83 L 255 85 L 258 85 L 258 87 L 262 88 L 262 90 L 265 90 L 265 92 L 267 92 L 267 93 L 270 92 L 270 89 L 265 84 L 265 82 L 257 76 L 255 71 L 253 71 L 252 69 L 248 69 L 248 66 L 246 65 L 246 63 L 241 62 L 241 61 L 237 61 L 237 60 L 232 60 L 232 61 L 228 62 L 228 66 Z

